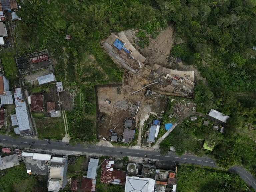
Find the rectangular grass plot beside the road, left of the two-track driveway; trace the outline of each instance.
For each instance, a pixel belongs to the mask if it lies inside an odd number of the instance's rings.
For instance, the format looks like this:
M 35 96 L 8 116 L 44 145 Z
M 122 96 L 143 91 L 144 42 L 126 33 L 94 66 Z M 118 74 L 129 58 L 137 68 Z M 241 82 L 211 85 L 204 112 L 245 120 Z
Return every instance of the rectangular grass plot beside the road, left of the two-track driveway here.
M 34 119 L 40 138 L 59 139 L 65 136 L 62 117 Z

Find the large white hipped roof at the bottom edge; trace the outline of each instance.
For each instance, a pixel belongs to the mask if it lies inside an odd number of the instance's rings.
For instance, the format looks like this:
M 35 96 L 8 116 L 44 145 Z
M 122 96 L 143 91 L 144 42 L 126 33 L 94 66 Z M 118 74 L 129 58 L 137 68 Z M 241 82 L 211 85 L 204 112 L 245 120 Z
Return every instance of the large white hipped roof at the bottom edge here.
M 124 192 L 154 192 L 155 180 L 150 178 L 126 177 Z

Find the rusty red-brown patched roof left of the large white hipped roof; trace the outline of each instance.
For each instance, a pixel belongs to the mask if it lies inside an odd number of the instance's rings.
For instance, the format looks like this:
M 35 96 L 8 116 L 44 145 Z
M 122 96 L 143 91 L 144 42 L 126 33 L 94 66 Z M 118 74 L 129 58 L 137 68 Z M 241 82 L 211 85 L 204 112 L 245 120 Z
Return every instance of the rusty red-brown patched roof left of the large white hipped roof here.
M 113 169 L 114 161 L 105 159 L 101 164 L 101 183 L 125 185 L 126 171 Z

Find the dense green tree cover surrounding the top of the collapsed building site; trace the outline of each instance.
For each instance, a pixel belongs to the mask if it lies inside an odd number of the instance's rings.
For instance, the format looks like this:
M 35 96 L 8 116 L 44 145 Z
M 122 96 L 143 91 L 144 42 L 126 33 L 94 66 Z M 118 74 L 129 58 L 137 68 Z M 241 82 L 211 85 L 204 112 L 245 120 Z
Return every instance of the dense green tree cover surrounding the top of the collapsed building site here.
M 143 30 L 155 38 L 173 24 L 177 40 L 170 54 L 181 57 L 184 64 L 195 66 L 208 82 L 196 84 L 197 111 L 208 113 L 214 108 L 231 117 L 225 138 L 213 151 L 217 163 L 225 168 L 243 163 L 256 174 L 255 142 L 236 132 L 238 128 L 248 129 L 249 124 L 256 125 L 256 51 L 252 50 L 256 45 L 255 0 L 19 2 L 22 8 L 17 14 L 23 23 L 15 31 L 24 42 L 19 45 L 20 54 L 49 49 L 57 78 L 66 85 L 80 86 L 84 93 L 85 110 L 79 114 L 86 119 L 70 119 L 79 128 L 70 127 L 71 135 L 76 135 L 73 141 L 93 140 L 85 137 L 82 131 L 87 129 L 80 126 L 93 124 L 90 121 L 95 116 L 93 86 L 122 80 L 122 71 L 99 42 L 110 32 L 130 28 Z M 72 38 L 66 40 L 66 34 Z M 103 71 L 83 65 L 89 54 Z M 85 73 L 88 75 L 84 76 Z

